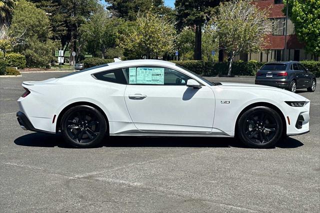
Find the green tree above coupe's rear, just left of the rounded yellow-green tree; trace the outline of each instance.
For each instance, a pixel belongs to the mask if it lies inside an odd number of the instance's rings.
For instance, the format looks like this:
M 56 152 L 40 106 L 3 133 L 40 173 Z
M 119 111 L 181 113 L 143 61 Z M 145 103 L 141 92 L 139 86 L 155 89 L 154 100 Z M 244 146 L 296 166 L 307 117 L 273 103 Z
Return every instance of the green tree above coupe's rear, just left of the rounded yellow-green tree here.
M 80 38 L 85 49 L 94 56 L 105 58 L 116 47 L 118 27 L 121 19 L 112 18 L 110 12 L 100 9 L 79 27 Z

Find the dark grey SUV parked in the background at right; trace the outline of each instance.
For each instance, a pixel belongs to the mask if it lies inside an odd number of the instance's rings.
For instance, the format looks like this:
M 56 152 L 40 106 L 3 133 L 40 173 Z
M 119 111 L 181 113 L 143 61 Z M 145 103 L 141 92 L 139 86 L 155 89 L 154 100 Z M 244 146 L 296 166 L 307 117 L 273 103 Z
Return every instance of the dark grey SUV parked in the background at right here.
M 314 91 L 316 79 L 298 61 L 269 62 L 256 72 L 255 84 L 285 88 L 292 92 L 298 88 Z

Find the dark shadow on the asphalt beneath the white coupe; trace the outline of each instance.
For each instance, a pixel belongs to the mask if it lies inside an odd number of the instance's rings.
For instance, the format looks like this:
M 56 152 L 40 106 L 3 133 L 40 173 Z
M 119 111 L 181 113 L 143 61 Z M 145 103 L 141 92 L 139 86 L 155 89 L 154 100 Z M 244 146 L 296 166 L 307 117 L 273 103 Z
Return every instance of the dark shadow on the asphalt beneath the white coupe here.
M 63 141 L 60 133 L 33 132 L 14 140 L 16 145 L 37 147 L 73 148 Z M 231 137 L 137 137 L 110 136 L 102 143 L 106 147 L 238 147 L 247 148 L 238 139 Z M 288 137 L 279 141 L 278 148 L 296 148 L 303 143 Z

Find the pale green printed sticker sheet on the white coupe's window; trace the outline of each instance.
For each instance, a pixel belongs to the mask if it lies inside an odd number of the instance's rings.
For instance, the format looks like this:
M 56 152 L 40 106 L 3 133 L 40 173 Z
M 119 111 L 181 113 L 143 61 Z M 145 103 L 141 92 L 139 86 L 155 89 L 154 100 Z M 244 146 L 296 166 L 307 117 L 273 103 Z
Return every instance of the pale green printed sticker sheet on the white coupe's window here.
M 164 68 L 130 67 L 129 84 L 164 84 Z

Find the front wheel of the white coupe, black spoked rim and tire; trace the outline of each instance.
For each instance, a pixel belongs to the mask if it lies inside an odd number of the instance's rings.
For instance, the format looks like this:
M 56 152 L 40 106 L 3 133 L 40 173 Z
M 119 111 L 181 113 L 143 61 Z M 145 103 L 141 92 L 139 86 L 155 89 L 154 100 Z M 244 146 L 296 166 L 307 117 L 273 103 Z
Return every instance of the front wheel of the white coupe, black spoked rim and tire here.
M 240 115 L 237 136 L 251 148 L 269 148 L 282 138 L 282 120 L 272 108 L 256 106 Z

